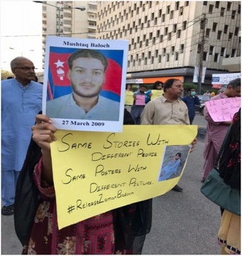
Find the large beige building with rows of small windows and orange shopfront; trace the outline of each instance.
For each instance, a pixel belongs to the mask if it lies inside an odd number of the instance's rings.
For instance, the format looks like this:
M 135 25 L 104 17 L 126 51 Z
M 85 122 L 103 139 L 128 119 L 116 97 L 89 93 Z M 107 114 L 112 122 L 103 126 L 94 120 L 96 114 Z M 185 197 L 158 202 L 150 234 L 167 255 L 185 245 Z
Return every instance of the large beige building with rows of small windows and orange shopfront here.
M 192 83 L 195 67 L 206 67 L 204 84 L 210 86 L 212 74 L 240 72 L 240 3 L 100 1 L 96 35 L 129 41 L 126 83 L 174 76 Z

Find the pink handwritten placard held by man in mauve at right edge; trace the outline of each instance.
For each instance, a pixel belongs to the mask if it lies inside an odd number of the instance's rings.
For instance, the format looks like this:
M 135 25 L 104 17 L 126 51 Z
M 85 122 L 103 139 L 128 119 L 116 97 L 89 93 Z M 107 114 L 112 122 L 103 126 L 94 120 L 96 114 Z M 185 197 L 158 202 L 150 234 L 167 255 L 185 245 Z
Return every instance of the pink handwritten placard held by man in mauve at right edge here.
M 231 121 L 241 106 L 240 97 L 231 97 L 205 102 L 209 115 L 215 122 Z

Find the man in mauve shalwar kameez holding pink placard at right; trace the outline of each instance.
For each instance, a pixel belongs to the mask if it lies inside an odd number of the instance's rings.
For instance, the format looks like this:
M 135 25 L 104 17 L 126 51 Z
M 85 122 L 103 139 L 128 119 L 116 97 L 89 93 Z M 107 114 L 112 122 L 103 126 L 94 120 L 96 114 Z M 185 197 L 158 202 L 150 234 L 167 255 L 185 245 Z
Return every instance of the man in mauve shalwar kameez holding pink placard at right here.
M 228 97 L 240 97 L 240 93 L 241 79 L 237 78 L 232 80 L 227 85 L 227 88 L 223 93 L 214 96 L 211 100 L 226 99 Z M 226 122 L 215 122 L 213 118 L 211 118 L 211 115 L 209 114 L 208 108 L 206 106 L 204 107 L 204 118 L 208 123 L 203 153 L 205 161 L 202 170 L 202 183 L 206 180 L 209 173 L 213 169 L 213 165 L 215 164 L 218 152 L 222 145 L 223 139 L 225 138 L 225 134 L 227 133 L 229 125 L 231 125 L 232 122 L 232 120 Z

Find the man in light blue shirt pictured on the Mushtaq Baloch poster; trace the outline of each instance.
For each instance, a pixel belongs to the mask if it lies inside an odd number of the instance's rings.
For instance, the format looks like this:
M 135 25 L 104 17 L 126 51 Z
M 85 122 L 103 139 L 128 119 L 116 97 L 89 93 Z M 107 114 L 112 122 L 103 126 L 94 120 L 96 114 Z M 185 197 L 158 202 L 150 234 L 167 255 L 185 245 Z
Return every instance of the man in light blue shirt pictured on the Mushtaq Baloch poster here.
M 68 58 L 68 78 L 73 92 L 47 101 L 50 118 L 119 120 L 119 102 L 100 95 L 105 80 L 107 58 L 100 52 L 80 49 Z

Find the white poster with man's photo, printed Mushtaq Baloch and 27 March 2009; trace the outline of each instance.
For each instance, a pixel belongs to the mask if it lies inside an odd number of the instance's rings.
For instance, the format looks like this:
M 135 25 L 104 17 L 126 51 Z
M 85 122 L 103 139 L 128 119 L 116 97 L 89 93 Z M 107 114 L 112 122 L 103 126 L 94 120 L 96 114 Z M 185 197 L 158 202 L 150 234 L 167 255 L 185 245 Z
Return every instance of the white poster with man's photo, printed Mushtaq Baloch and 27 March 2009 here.
M 43 114 L 57 129 L 122 132 L 128 40 L 47 36 Z

